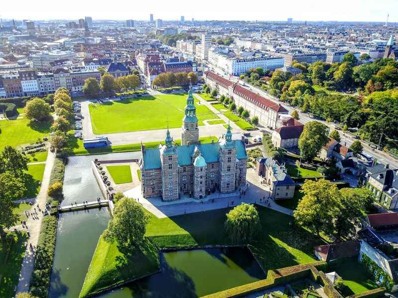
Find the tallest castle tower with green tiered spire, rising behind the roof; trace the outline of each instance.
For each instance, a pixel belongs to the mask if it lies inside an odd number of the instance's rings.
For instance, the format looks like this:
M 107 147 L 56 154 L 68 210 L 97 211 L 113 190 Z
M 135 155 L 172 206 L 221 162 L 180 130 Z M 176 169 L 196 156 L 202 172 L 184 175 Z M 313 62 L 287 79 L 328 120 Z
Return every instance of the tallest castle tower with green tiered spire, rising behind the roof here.
M 187 97 L 187 106 L 185 107 L 185 116 L 183 119 L 183 129 L 181 132 L 181 145 L 199 144 L 198 118 L 196 117 L 196 107 L 194 96 L 190 88 Z

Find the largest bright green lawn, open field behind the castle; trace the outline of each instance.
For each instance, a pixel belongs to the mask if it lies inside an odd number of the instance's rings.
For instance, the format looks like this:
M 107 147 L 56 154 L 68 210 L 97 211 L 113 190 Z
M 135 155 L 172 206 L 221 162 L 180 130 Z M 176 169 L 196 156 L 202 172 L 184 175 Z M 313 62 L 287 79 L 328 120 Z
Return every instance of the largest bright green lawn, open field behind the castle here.
M 199 125 L 203 120 L 218 118 L 205 105 L 196 100 Z M 142 96 L 102 105 L 89 105 L 91 123 L 95 134 L 134 132 L 181 127 L 187 94 L 161 94 Z

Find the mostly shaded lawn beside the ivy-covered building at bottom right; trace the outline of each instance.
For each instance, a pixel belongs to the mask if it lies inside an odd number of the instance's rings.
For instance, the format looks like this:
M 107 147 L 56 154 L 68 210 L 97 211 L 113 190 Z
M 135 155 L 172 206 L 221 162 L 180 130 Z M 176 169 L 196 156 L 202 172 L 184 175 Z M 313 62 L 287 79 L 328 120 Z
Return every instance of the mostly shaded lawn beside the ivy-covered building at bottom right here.
M 373 276 L 358 262 L 358 257 L 340 260 L 338 264 L 329 263 L 328 271 L 336 271 L 344 280 L 343 283 L 347 286 L 342 291 L 344 297 L 379 288 Z

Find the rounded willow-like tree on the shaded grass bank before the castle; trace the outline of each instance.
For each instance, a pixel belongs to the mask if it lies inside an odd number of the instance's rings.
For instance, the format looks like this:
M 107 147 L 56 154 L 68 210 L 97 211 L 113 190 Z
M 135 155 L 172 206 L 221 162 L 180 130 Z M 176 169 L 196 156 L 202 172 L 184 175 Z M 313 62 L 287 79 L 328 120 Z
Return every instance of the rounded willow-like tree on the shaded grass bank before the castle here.
M 259 235 L 261 223 L 254 205 L 242 203 L 226 216 L 225 230 L 232 243 L 247 243 Z

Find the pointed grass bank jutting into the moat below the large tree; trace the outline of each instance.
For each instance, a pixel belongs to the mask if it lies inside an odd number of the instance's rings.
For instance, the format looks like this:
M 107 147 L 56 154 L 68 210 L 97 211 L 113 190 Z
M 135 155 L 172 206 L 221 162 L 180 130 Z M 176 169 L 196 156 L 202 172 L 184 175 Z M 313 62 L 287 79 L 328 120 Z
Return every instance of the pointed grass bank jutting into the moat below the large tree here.
M 150 240 L 147 239 L 140 250 L 132 250 L 118 247 L 116 242 L 107 243 L 101 236 L 79 297 L 158 270 L 158 250 Z

